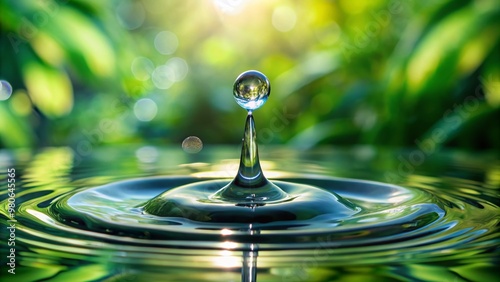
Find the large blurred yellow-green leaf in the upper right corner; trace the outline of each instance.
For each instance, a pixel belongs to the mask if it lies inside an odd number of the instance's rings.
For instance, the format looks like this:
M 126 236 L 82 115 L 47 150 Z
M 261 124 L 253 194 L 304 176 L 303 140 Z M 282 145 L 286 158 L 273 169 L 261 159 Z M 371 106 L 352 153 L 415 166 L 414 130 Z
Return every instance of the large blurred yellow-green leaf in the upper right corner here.
M 409 57 L 406 78 L 410 95 L 446 89 L 479 67 L 498 41 L 497 10 L 463 8 L 425 35 Z M 398 93 L 397 91 L 395 93 Z

